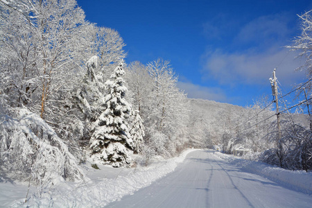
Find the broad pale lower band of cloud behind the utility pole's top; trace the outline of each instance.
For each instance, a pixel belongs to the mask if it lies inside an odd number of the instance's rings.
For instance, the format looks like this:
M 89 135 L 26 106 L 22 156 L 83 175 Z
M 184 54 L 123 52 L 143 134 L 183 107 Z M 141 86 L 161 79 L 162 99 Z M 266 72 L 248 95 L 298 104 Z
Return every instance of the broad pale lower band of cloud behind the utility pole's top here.
M 277 78 L 282 85 L 302 82 L 304 73 L 295 72 L 300 60 L 287 49 L 268 49 L 261 53 L 223 53 L 205 55 L 203 78 L 215 78 L 223 85 L 268 85 L 268 78 L 277 67 Z

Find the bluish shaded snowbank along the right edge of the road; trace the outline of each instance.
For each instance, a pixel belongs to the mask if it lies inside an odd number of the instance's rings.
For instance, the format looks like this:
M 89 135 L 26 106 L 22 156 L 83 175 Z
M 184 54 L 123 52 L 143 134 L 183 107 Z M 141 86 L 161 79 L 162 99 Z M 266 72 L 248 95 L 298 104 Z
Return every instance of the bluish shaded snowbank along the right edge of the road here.
M 306 173 L 306 171 L 288 171 L 263 162 L 249 161 L 220 152 L 214 152 L 214 155 L 220 159 L 225 159 L 230 164 L 240 166 L 245 171 L 261 175 L 274 182 L 279 182 L 290 189 L 312 194 L 312 173 Z

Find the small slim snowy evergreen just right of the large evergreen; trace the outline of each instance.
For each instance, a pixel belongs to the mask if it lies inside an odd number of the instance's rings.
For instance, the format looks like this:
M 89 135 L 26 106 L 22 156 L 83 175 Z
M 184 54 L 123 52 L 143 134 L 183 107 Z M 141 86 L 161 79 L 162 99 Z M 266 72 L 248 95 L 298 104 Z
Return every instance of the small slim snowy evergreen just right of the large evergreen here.
M 139 110 L 133 110 L 133 120 L 132 120 L 132 128 L 130 130 L 130 135 L 132 137 L 133 141 L 133 150 L 135 153 L 141 152 L 143 146 L 144 146 L 144 140 L 143 137 L 145 135 L 144 133 L 144 125 L 143 120 L 141 119 L 141 116 L 139 114 Z

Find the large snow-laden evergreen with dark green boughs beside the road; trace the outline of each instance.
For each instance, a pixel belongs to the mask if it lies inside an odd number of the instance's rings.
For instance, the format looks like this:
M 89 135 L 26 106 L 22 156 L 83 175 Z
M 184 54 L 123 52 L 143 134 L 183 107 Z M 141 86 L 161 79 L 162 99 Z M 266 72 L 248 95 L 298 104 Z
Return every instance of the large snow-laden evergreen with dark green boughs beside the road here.
M 133 141 L 130 137 L 128 117 L 131 106 L 125 101 L 125 92 L 121 78 L 123 63 L 119 64 L 107 80 L 105 87 L 109 93 L 103 99 L 105 110 L 96 120 L 96 129 L 90 140 L 92 157 L 100 159 L 103 164 L 113 167 L 130 166 L 130 151 L 133 149 Z

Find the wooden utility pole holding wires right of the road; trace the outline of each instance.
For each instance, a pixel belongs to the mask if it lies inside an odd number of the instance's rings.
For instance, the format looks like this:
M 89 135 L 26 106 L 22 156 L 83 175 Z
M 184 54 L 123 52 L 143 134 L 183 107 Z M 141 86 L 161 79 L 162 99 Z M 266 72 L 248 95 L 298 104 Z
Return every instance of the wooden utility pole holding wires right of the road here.
M 280 125 L 280 119 L 279 119 L 279 99 L 277 97 L 277 77 L 275 75 L 276 68 L 273 70 L 273 78 L 270 78 L 271 88 L 272 88 L 272 94 L 275 98 L 275 105 L 276 105 L 276 116 L 277 116 L 277 130 L 279 133 L 279 137 L 277 139 L 276 145 L 277 145 L 277 156 L 279 157 L 279 164 L 282 167 L 282 146 L 281 146 L 281 125 Z

